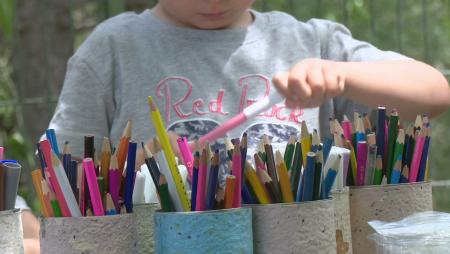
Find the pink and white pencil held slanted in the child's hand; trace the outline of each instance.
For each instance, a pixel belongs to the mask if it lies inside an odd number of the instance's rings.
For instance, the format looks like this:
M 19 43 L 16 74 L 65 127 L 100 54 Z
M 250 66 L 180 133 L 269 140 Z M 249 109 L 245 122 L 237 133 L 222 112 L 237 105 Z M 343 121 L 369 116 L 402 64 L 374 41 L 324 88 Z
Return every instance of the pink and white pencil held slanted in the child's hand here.
M 213 141 L 215 141 L 216 139 L 225 136 L 228 131 L 236 128 L 248 119 L 255 117 L 256 115 L 272 107 L 274 104 L 279 103 L 283 100 L 283 96 L 278 92 L 272 93 L 270 96 L 262 99 L 261 101 L 258 101 L 246 107 L 241 113 L 226 121 L 219 127 L 215 128 L 205 136 L 201 137 L 198 140 L 199 144 L 203 146 L 207 142 L 213 143 Z M 191 151 L 194 151 L 194 144 L 191 143 L 190 148 Z

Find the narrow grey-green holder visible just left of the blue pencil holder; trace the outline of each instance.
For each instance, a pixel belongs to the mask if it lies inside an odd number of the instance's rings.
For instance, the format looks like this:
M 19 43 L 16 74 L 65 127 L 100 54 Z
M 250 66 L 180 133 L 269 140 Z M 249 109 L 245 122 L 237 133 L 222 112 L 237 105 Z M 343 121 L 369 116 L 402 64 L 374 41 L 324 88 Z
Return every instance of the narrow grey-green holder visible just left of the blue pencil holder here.
M 133 216 L 136 226 L 137 253 L 154 253 L 155 240 L 153 238 L 155 211 L 160 209 L 158 203 L 134 204 Z

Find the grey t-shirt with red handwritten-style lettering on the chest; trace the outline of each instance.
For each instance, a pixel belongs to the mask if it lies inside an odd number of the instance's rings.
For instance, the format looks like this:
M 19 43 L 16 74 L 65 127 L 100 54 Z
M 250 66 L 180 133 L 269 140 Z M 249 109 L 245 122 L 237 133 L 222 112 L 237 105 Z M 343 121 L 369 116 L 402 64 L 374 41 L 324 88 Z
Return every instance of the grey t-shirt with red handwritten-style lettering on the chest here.
M 336 61 L 403 59 L 351 37 L 344 26 L 319 19 L 306 23 L 281 13 L 252 11 L 247 28 L 195 30 L 159 20 L 147 10 L 124 13 L 98 25 L 68 62 L 50 128 L 59 143 L 81 155 L 83 136 L 117 145 L 128 120 L 133 139 L 155 135 L 147 96 L 160 108 L 166 128 L 193 139 L 251 103 L 276 92 L 270 80 L 306 58 Z M 328 118 L 368 112 L 346 98 L 320 108 L 289 110 L 283 104 L 233 130 L 249 134 L 250 151 L 263 134 L 284 143 L 305 120 L 310 131 L 329 133 Z

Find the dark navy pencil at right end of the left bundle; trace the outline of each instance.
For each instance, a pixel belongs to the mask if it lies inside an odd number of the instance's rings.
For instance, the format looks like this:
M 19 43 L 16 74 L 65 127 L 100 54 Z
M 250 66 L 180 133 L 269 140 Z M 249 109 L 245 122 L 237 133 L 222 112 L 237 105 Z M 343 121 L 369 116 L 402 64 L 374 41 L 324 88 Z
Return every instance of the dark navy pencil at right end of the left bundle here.
M 124 203 L 127 213 L 133 212 L 133 189 L 134 189 L 134 170 L 136 164 L 137 143 L 130 141 L 128 145 L 127 171 L 125 178 L 125 197 Z

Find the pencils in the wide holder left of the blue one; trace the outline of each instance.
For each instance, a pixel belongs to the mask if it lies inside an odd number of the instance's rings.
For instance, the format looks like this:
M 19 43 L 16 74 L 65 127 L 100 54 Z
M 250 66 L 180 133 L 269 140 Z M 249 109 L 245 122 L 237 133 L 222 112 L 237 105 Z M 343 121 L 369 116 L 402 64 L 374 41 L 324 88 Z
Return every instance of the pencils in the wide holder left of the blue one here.
M 31 172 L 45 217 L 103 216 L 130 213 L 133 200 L 142 199 L 140 172 L 135 170 L 137 143 L 131 140 L 127 123 L 120 143 L 112 154 L 104 138 L 101 158 L 96 158 L 94 137 L 84 137 L 84 158 L 75 160 L 66 142 L 59 153 L 53 129 L 37 145 L 40 169 Z M 125 167 L 126 162 L 126 167 Z M 141 183 L 141 181 L 139 181 Z M 138 189 L 138 191 L 135 191 Z M 136 197 L 137 196 L 137 197 Z

